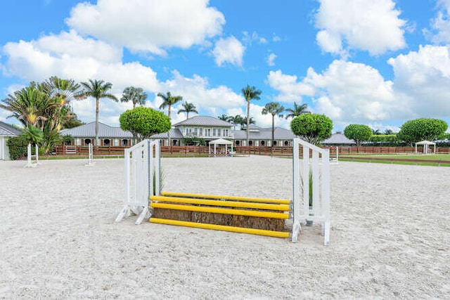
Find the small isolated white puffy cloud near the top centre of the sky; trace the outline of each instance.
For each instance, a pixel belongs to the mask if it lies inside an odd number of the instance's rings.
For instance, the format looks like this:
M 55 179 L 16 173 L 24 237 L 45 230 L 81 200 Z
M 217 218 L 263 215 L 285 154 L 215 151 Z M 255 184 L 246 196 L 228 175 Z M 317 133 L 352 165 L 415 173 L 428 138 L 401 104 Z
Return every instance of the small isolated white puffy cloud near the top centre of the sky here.
M 226 39 L 219 39 L 212 50 L 212 55 L 219 67 L 224 63 L 242 66 L 244 52 L 245 46 L 236 37 L 231 36 Z

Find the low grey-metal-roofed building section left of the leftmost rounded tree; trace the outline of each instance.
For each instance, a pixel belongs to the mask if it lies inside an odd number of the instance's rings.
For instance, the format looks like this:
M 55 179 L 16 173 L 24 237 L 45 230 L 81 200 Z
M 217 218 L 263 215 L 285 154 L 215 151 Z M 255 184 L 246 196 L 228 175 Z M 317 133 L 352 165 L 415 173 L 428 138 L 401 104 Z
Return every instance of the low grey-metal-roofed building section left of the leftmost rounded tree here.
M 71 129 L 60 131 L 63 136 L 72 137 L 72 145 L 89 145 L 95 143 L 96 122 L 83 124 Z M 120 127 L 113 127 L 98 122 L 98 138 L 101 146 L 130 146 L 133 135 Z

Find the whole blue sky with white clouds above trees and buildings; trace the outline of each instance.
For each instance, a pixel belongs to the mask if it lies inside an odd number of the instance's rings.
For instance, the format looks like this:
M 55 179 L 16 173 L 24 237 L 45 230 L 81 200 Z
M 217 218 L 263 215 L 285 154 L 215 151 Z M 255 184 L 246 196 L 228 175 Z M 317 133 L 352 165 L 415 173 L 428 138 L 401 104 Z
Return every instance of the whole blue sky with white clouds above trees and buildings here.
M 450 0 L 18 0 L 0 11 L 0 99 L 58 77 L 171 91 L 200 115 L 245 115 L 241 89 L 266 103 L 307 103 L 333 120 L 393 129 L 408 119 L 450 122 Z M 72 103 L 95 120 L 93 99 Z M 100 120 L 119 126 L 129 103 L 101 100 Z M 180 107 L 176 105 L 174 110 Z M 0 120 L 9 113 L 0 110 Z M 183 120 L 172 114 L 172 123 Z M 290 120 L 276 119 L 289 127 Z

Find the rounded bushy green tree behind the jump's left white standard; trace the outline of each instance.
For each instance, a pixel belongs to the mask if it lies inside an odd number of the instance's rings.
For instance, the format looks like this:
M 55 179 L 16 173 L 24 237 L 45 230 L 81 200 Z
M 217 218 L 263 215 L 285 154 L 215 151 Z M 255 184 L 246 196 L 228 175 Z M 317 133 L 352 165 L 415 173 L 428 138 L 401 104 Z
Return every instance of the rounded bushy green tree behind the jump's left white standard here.
M 172 127 L 170 118 L 163 112 L 142 106 L 122 113 L 119 122 L 120 128 L 130 131 L 138 141 L 150 138 L 153 134 L 167 132 Z

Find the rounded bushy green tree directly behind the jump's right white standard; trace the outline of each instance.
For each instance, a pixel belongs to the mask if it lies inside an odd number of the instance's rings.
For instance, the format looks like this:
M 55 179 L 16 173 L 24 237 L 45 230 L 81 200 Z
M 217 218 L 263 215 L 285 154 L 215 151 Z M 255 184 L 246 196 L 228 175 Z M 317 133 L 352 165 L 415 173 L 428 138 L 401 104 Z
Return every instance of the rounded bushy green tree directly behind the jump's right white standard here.
M 290 122 L 290 129 L 302 140 L 316 145 L 331 136 L 333 121 L 326 115 L 303 114 Z

